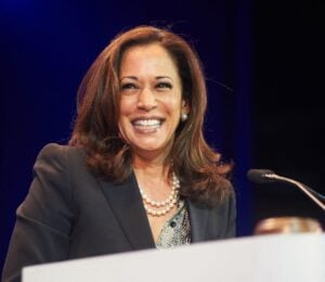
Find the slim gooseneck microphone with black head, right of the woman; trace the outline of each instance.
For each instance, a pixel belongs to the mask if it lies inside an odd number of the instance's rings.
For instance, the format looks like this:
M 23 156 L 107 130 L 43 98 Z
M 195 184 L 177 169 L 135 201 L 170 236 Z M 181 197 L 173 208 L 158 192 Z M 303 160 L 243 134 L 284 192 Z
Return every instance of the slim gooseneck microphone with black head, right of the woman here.
M 312 190 L 306 184 L 300 183 L 297 180 L 278 176 L 269 169 L 249 169 L 247 178 L 255 183 L 264 184 L 270 182 L 285 182 L 298 187 L 304 194 L 307 194 L 314 203 L 316 203 L 323 210 L 325 210 L 325 204 L 322 203 L 317 197 L 325 200 L 325 196 Z M 317 197 L 316 197 L 317 196 Z

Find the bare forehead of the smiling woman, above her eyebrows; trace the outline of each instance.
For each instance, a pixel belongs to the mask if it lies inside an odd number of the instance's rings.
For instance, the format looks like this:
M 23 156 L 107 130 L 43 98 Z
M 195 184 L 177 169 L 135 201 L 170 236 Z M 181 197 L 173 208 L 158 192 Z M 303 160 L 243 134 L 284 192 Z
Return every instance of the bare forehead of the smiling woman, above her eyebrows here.
M 158 43 L 128 48 L 121 57 L 120 74 L 129 72 L 179 73 L 173 57 Z

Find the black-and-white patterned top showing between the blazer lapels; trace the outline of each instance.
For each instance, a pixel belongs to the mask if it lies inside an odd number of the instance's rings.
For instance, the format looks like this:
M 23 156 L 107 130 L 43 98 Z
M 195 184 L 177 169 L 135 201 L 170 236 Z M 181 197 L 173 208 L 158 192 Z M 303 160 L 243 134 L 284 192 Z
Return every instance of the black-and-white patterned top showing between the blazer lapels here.
M 180 201 L 174 216 L 162 227 L 156 243 L 157 248 L 170 248 L 191 243 L 191 226 L 184 201 Z

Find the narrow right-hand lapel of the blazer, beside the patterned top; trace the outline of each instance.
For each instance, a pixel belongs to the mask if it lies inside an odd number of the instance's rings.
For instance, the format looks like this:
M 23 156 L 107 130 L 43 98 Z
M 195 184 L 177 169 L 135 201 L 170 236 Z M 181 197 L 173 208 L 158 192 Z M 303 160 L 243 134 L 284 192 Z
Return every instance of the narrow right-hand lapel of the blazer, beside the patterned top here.
M 206 239 L 208 228 L 208 209 L 186 200 L 191 222 L 191 240 L 193 243 L 203 242 Z

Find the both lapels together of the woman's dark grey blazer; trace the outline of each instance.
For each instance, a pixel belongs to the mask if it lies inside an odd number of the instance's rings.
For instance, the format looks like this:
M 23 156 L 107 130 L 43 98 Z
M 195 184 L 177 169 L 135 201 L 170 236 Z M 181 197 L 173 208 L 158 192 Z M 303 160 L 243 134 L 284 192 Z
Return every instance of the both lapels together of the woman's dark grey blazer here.
M 132 172 L 121 184 L 101 181 L 101 185 L 130 245 L 134 249 L 155 247 L 134 174 Z M 208 209 L 190 200 L 186 200 L 186 207 L 190 214 L 192 242 L 205 241 Z

